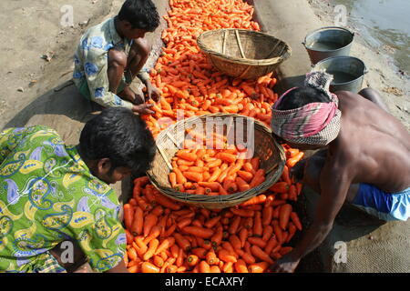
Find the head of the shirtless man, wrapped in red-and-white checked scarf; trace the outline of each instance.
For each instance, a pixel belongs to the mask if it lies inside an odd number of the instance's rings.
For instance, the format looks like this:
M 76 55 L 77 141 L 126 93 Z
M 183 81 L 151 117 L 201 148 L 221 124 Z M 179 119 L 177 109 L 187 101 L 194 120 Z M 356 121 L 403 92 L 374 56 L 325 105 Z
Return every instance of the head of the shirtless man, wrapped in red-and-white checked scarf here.
M 341 115 L 337 97 L 329 95 L 312 86 L 286 92 L 272 107 L 273 137 L 304 150 L 327 146 L 339 133 Z

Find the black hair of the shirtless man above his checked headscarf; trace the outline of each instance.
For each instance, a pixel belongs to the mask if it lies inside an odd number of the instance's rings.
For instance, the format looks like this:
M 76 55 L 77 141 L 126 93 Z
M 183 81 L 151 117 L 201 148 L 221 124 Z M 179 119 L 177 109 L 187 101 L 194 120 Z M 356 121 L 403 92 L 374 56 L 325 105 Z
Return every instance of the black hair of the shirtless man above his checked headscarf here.
M 325 95 L 321 90 L 309 86 L 304 86 L 293 89 L 291 92 L 285 95 L 276 109 L 290 110 L 314 102 L 329 103 L 331 102 L 331 100 L 329 96 Z

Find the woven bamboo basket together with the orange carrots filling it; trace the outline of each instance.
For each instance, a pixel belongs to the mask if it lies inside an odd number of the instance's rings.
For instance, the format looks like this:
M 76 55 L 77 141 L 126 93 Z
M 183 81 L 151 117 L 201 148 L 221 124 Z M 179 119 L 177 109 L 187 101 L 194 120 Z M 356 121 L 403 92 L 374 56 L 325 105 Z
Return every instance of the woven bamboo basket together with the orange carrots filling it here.
M 180 120 L 159 133 L 156 144 L 151 183 L 169 198 L 210 209 L 258 196 L 281 177 L 286 162 L 270 129 L 243 115 Z

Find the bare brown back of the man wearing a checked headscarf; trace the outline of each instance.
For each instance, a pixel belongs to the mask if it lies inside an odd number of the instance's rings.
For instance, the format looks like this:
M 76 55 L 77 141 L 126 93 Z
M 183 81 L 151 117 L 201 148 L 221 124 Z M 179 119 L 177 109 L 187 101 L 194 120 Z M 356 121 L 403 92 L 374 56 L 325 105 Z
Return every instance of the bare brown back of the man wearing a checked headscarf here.
M 409 187 L 410 135 L 405 126 L 361 95 L 337 95 L 342 129 L 329 145 L 335 154 L 330 158 L 339 159 L 353 184 L 372 184 L 387 193 Z

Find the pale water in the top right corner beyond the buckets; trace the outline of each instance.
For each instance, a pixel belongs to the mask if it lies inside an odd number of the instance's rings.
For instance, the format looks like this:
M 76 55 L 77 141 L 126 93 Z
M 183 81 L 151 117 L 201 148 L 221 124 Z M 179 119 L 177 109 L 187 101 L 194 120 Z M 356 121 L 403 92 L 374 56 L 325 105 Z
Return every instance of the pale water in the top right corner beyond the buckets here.
M 347 25 L 359 28 L 369 45 L 389 52 L 410 73 L 410 0 L 330 0 L 345 5 Z

